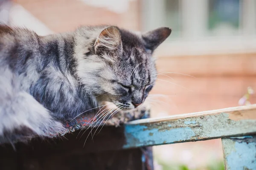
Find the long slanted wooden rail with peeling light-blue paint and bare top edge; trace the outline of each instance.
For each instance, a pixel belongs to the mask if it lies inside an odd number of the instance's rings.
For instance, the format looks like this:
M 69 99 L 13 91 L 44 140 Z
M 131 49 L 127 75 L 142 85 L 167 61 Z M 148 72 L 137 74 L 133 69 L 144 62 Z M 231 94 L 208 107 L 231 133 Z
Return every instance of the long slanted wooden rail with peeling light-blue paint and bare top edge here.
M 256 133 L 256 105 L 149 118 L 125 125 L 123 148 L 192 142 Z

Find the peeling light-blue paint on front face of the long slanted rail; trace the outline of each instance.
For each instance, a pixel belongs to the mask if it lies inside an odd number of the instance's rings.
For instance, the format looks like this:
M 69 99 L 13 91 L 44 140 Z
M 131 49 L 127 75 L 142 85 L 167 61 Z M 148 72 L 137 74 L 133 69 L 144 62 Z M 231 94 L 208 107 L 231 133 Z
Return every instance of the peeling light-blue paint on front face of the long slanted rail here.
M 256 120 L 231 120 L 228 113 L 126 124 L 125 148 L 192 142 L 256 133 Z M 165 142 L 163 142 L 165 141 Z

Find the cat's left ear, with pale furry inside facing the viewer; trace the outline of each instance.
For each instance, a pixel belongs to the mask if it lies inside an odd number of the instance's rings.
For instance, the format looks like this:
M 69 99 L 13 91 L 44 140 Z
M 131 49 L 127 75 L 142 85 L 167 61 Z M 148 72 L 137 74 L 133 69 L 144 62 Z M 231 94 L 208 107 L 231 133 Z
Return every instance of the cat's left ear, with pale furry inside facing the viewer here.
M 102 52 L 122 52 L 122 40 L 119 28 L 116 26 L 104 28 L 94 43 L 94 51 L 96 54 L 101 54 Z

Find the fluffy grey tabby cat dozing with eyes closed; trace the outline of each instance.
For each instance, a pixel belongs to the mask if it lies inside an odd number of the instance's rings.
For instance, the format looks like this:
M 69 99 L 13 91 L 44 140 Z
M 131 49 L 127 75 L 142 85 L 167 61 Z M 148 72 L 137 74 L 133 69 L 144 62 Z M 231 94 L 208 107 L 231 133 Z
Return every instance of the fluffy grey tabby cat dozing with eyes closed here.
M 105 102 L 119 115 L 140 111 L 157 75 L 152 54 L 170 34 L 166 27 L 81 26 L 41 37 L 0 25 L 0 141 L 61 131 Z

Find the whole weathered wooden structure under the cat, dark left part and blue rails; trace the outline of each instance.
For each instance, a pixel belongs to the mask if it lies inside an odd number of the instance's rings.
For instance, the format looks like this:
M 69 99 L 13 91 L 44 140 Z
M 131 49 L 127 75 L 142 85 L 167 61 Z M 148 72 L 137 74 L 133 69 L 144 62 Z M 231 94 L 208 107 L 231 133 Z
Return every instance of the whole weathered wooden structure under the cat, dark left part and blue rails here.
M 256 105 L 140 119 L 103 127 L 93 140 L 66 139 L 0 147 L 0 169 L 153 170 L 151 146 L 219 139 L 226 170 L 256 170 Z M 83 147 L 84 145 L 84 147 Z

